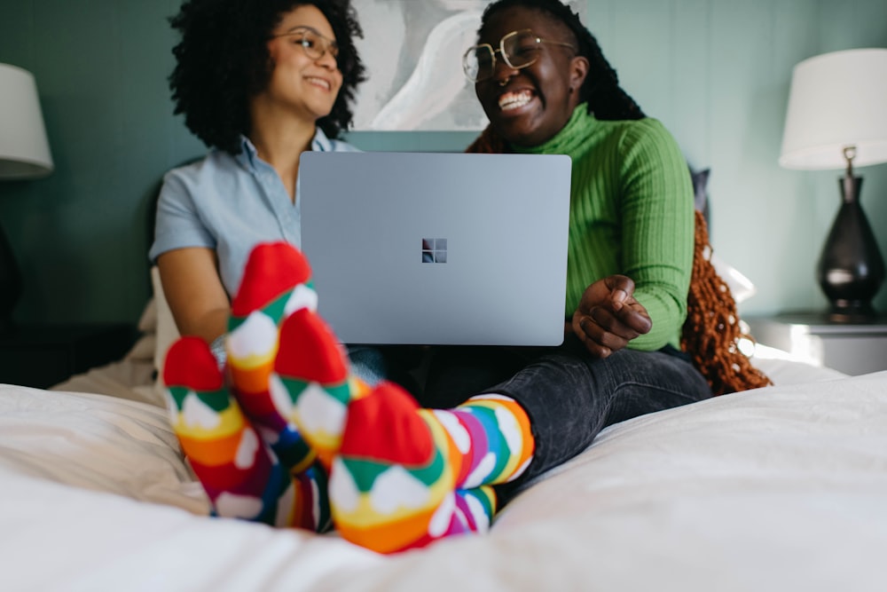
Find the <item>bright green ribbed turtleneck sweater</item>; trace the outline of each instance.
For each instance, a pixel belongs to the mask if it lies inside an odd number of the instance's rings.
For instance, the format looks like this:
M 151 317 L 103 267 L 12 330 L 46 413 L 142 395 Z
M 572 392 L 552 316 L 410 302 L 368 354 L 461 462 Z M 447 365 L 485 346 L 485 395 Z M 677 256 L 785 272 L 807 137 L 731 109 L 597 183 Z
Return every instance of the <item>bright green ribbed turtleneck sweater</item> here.
M 566 315 L 590 284 L 614 273 L 634 280 L 653 320 L 637 350 L 679 348 L 693 264 L 693 185 L 680 148 L 655 119 L 598 121 L 585 103 L 554 138 L 515 152 L 573 161 Z

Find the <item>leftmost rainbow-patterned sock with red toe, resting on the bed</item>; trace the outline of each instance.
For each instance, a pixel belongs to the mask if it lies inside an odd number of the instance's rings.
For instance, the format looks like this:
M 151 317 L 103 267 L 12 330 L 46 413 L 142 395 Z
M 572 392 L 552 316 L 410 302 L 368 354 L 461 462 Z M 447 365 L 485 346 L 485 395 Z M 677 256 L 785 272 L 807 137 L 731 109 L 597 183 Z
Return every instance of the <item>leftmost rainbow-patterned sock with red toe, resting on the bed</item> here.
M 225 387 L 207 343 L 189 336 L 173 343 L 163 381 L 173 429 L 214 515 L 326 527 L 326 474 L 313 466 L 293 474 L 280 464 Z

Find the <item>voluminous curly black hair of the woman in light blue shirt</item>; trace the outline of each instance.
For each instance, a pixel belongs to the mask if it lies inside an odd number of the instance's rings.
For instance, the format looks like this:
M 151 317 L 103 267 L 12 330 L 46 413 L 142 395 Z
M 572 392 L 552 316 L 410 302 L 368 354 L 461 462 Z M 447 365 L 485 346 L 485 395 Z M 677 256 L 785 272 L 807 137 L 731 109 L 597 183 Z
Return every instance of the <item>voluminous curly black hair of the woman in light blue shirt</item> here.
M 250 127 L 249 99 L 271 79 L 266 43 L 286 12 L 311 4 L 323 12 L 339 45 L 342 86 L 330 114 L 318 120 L 329 138 L 339 138 L 354 118 L 357 85 L 366 80 L 355 37 L 363 37 L 349 0 L 186 0 L 169 19 L 181 34 L 169 75 L 175 114 L 207 146 L 240 152 Z

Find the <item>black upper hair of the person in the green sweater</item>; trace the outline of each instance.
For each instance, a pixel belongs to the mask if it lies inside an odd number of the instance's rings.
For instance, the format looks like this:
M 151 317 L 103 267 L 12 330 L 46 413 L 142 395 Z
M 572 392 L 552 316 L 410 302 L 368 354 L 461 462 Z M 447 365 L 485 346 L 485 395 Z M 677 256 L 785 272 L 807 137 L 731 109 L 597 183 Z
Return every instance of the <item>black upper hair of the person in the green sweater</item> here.
M 513 6 L 544 12 L 572 31 L 579 48 L 577 54 L 584 56 L 589 63 L 585 83 L 579 89 L 579 99 L 588 102 L 589 113 L 602 120 L 642 119 L 645 116 L 634 99 L 619 86 L 616 70 L 604 58 L 597 39 L 585 28 L 579 15 L 559 0 L 498 0 L 484 9 L 477 35 L 483 36 L 493 15 Z

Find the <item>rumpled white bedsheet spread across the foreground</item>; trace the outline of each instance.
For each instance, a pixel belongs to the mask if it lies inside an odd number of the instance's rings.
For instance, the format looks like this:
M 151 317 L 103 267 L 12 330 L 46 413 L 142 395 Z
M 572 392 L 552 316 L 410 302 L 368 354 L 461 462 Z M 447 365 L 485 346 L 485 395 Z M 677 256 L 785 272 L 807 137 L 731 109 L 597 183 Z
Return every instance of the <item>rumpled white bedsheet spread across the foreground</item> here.
M 399 556 L 206 512 L 161 408 L 0 385 L 4 591 L 883 592 L 887 373 L 617 424 L 491 533 Z

